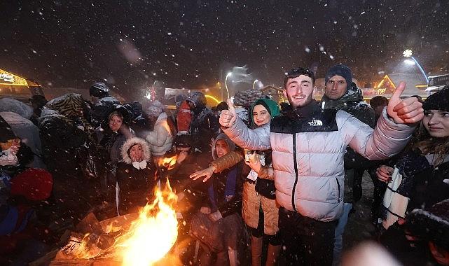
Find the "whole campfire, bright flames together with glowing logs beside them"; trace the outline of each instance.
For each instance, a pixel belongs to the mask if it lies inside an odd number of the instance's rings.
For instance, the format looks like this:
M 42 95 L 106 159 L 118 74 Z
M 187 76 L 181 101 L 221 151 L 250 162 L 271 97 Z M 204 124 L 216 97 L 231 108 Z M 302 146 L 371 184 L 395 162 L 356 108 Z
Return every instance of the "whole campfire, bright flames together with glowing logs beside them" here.
M 164 190 L 155 188 L 155 199 L 138 216 L 129 214 L 98 222 L 90 214 L 77 227 L 81 234 L 71 233 L 68 244 L 61 248 L 63 255 L 57 255 L 57 259 L 94 258 L 121 261 L 122 265 L 177 264 L 166 256 L 178 237 L 176 202 L 177 195 L 167 181 Z

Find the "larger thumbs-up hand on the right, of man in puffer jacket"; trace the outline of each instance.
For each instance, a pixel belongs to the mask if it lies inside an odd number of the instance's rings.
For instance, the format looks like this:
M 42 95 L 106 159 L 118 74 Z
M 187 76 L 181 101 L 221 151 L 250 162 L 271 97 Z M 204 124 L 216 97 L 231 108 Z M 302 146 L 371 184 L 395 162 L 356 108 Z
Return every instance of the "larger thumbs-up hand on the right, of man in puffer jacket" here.
M 406 83 L 404 82 L 399 83 L 399 86 L 396 87 L 392 98 L 388 102 L 388 116 L 396 124 L 418 123 L 424 118 L 424 109 L 422 109 L 422 104 L 415 97 L 401 99 L 401 94 L 405 89 Z

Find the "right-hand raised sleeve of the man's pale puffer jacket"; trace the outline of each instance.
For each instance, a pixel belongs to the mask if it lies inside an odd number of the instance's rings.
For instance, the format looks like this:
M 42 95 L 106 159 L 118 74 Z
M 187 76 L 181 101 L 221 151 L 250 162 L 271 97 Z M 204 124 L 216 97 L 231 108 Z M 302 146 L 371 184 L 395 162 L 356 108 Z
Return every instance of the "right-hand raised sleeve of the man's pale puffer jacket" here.
M 387 109 L 374 130 L 345 111 L 338 111 L 336 120 L 345 143 L 370 160 L 386 159 L 401 152 L 415 130 L 387 118 Z

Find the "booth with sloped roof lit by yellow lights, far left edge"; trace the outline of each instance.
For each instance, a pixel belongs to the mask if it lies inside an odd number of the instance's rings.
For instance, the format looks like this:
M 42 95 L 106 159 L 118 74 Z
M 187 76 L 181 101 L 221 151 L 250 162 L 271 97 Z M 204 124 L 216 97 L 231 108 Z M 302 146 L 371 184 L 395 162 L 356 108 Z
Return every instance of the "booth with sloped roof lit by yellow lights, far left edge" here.
M 33 95 L 43 95 L 39 83 L 0 69 L 0 98 L 9 97 L 25 102 Z

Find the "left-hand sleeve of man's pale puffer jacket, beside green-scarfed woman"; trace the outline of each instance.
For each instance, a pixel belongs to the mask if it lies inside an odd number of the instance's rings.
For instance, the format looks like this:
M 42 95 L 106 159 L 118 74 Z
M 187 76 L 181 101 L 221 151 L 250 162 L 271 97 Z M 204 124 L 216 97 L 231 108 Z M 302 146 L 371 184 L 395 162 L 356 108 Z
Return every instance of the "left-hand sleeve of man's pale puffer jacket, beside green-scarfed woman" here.
M 250 130 L 240 118 L 230 127 L 221 127 L 223 132 L 237 146 L 252 151 L 266 151 L 271 149 L 270 145 L 270 124 L 265 124 Z

